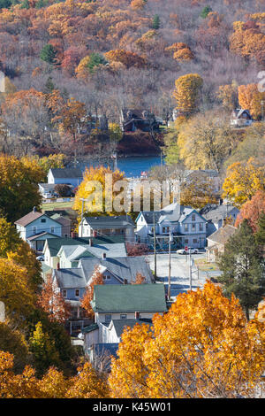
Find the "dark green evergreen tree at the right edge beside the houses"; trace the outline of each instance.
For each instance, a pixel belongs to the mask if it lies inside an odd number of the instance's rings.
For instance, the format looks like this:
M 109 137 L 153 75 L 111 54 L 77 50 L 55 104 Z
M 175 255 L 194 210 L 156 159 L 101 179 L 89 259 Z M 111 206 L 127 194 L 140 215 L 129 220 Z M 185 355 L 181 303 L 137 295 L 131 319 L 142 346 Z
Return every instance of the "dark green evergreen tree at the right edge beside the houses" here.
M 265 295 L 265 279 L 261 248 L 247 220 L 225 244 L 218 264 L 223 271 L 218 281 L 223 284 L 224 295 L 238 297 L 249 320 L 249 312 Z

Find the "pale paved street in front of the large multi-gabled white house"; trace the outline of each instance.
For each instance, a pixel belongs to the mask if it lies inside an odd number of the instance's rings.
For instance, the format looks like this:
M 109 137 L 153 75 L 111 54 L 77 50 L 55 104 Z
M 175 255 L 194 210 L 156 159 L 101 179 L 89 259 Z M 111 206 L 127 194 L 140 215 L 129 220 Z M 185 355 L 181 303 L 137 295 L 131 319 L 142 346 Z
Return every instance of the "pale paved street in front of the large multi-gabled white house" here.
M 192 256 L 193 259 L 204 258 L 205 253 L 195 254 Z M 154 255 L 146 256 L 149 262 L 151 270 L 155 270 L 155 258 Z M 169 255 L 168 254 L 157 254 L 156 255 L 156 274 L 166 286 L 168 290 L 168 276 L 169 276 Z M 217 275 L 218 272 L 209 273 L 209 275 Z M 171 278 L 170 278 L 170 295 L 172 298 L 178 296 L 179 293 L 186 292 L 190 289 L 190 270 L 189 270 L 189 256 L 183 256 L 176 253 L 171 253 Z M 192 289 L 203 287 L 208 273 L 199 272 L 196 266 L 192 267 Z

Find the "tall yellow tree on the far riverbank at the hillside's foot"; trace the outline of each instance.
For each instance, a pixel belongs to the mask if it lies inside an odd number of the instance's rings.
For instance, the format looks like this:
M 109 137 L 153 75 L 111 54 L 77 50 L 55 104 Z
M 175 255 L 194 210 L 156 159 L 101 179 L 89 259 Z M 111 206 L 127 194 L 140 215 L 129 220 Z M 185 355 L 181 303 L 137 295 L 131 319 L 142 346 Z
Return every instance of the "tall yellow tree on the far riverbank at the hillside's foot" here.
M 181 114 L 188 115 L 197 110 L 202 84 L 202 78 L 198 73 L 188 73 L 175 81 L 173 97 Z

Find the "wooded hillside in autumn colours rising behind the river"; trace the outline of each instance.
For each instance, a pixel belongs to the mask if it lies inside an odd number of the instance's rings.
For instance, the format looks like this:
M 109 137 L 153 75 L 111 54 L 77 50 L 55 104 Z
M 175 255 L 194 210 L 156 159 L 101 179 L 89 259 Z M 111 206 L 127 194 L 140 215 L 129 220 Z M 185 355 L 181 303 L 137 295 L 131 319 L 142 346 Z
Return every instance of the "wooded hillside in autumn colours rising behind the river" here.
M 200 77 L 197 111 L 231 112 L 236 88 L 239 104 L 261 117 L 260 101 L 252 97 L 265 65 L 264 5 L 3 0 L 0 150 L 8 153 L 16 143 L 19 155 L 91 152 L 93 144 L 110 140 L 111 129 L 117 132 L 124 108 L 148 109 L 167 121 L 178 104 L 175 81 L 188 73 Z M 84 134 L 92 115 L 106 117 L 110 131 L 96 127 Z M 161 137 L 154 139 L 161 144 Z M 128 138 L 121 144 L 126 148 Z

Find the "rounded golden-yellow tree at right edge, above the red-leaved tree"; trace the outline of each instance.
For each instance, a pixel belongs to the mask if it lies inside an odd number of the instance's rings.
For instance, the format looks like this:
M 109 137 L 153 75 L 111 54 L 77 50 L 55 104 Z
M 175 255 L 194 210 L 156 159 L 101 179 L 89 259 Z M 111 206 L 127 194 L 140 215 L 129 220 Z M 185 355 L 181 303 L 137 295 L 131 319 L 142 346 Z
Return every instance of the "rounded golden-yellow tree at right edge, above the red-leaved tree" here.
M 223 182 L 223 197 L 239 207 L 252 199 L 258 190 L 265 189 L 265 167 L 255 163 L 254 158 L 247 162 L 236 162 L 228 167 Z

